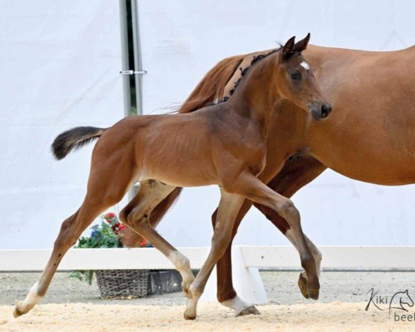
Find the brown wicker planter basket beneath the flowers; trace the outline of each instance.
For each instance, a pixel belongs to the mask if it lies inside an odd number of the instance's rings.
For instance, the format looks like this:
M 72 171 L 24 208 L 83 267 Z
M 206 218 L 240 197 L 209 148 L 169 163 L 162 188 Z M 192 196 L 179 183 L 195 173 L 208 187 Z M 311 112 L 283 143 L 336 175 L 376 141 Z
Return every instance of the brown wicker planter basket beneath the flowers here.
M 104 299 L 145 297 L 149 293 L 149 270 L 96 270 Z

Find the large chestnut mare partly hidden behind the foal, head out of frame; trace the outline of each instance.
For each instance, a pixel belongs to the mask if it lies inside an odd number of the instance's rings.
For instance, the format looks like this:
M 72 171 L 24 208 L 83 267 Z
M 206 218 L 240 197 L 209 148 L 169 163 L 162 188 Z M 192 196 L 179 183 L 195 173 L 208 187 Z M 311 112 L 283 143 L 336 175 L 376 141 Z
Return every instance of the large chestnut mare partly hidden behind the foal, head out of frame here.
M 179 112 L 192 112 L 229 95 L 241 75 L 239 68 L 246 68 L 252 57 L 268 52 L 229 57 L 216 64 Z M 415 183 L 415 46 L 393 52 L 368 52 L 310 45 L 304 55 L 335 112 L 327 121 L 312 122 L 292 103 L 280 107 L 279 115 L 270 122 L 267 163 L 261 179 L 286 197 L 327 167 L 368 183 Z M 282 136 L 283 128 L 291 128 L 296 140 Z M 181 188 L 176 188 L 153 210 L 151 225 L 160 221 L 180 192 Z M 243 203 L 232 236 L 251 205 L 248 200 Z M 264 205 L 254 205 L 298 248 L 297 239 L 282 216 Z M 212 223 L 215 221 L 214 214 Z M 139 240 L 131 231 L 124 237 L 129 246 L 135 246 Z M 306 240 L 320 270 L 321 254 Z M 230 250 L 228 246 L 216 265 L 219 302 L 234 308 L 237 315 L 257 313 L 234 291 Z M 298 284 L 308 297 L 304 273 Z

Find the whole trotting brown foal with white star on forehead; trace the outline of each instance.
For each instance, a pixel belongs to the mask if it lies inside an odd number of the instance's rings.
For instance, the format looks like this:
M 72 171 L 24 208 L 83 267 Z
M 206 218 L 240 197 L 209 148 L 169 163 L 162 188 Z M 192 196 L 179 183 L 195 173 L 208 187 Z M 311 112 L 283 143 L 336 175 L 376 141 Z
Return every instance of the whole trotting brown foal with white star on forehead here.
M 93 150 L 84 202 L 62 223 L 48 264 L 26 299 L 17 303 L 15 317 L 39 302 L 66 251 L 136 181 L 142 181 L 140 190 L 120 212 L 120 219 L 151 241 L 181 273 L 188 298 L 186 319 L 196 317 L 199 297 L 230 243 L 234 220 L 245 199 L 284 216 L 298 239 L 308 295 L 317 298 L 320 284 L 315 260 L 302 234 L 299 212 L 289 199 L 270 190 L 258 177 L 266 165 L 270 119 L 286 100 L 313 114 L 315 120 L 326 118 L 331 111 L 301 54 L 309 37 L 297 44 L 293 37 L 279 50 L 257 57 L 226 102 L 181 115 L 128 117 L 108 129 L 77 127 L 57 136 L 52 147 L 58 159 L 93 138 L 100 139 Z M 212 248 L 194 279 L 187 257 L 151 228 L 149 215 L 177 186 L 212 184 L 220 186 L 221 201 Z

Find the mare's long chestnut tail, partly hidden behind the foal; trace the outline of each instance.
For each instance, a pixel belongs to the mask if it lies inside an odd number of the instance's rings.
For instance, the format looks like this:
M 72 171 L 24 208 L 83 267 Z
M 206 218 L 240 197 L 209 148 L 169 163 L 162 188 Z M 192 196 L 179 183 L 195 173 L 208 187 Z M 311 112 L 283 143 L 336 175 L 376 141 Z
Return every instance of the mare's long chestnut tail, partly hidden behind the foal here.
M 178 113 L 190 113 L 196 111 L 196 109 L 201 109 L 210 102 L 214 102 L 214 100 L 222 99 L 226 84 L 228 84 L 234 72 L 237 71 L 239 64 L 241 64 L 245 56 L 227 57 L 210 69 L 194 91 L 192 91 L 189 98 L 183 103 Z M 156 205 L 156 208 L 151 211 L 150 215 L 149 222 L 151 227 L 155 228 L 169 208 L 172 208 L 181 191 L 181 187 L 176 187 L 169 196 Z M 122 244 L 124 246 L 137 247 L 141 241 L 141 237 L 131 228 L 124 230 L 122 234 Z

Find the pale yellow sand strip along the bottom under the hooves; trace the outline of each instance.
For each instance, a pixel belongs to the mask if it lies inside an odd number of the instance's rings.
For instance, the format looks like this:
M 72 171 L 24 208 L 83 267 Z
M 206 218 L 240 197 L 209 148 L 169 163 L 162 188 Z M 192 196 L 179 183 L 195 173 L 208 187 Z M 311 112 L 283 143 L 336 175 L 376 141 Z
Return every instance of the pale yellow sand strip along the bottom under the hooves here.
M 414 331 L 414 322 L 394 322 L 384 311 L 365 311 L 365 305 L 272 304 L 258 307 L 262 315 L 234 317 L 219 304 L 201 304 L 194 321 L 183 320 L 184 306 L 44 304 L 17 319 L 12 306 L 0 306 L 0 331 Z

